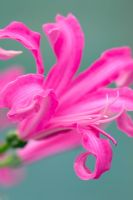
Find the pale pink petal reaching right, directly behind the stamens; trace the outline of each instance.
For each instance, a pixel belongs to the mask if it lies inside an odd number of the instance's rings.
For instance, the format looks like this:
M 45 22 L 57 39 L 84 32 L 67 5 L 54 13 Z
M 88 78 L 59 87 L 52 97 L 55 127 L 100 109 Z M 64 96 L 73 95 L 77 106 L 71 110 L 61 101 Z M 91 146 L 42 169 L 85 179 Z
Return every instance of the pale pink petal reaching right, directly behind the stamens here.
M 107 101 L 108 97 L 108 101 Z M 69 103 L 69 100 L 68 100 Z M 57 117 L 64 117 L 72 114 L 85 113 L 85 118 L 89 113 L 97 113 L 98 109 L 104 109 L 108 105 L 107 111 L 110 113 L 118 113 L 122 110 L 133 110 L 133 90 L 130 88 L 106 88 L 97 92 L 88 93 L 79 102 L 67 106 L 66 103 L 62 104 L 56 113 Z M 94 112 L 93 112 L 94 110 Z M 76 116 L 75 116 L 76 117 Z M 75 118 L 76 120 L 76 118 Z M 60 119 L 61 121 L 61 119 Z M 56 121 L 57 123 L 57 121 Z

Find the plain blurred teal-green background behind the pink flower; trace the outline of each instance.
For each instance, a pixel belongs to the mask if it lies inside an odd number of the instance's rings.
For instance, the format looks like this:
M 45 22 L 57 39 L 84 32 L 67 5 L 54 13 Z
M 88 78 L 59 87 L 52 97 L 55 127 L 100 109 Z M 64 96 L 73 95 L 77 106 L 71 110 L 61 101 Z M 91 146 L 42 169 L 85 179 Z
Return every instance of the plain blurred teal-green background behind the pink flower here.
M 129 45 L 133 48 L 133 0 L 0 0 L 0 27 L 13 20 L 26 23 L 42 33 L 41 26 L 53 22 L 57 13 L 72 12 L 79 19 L 86 39 L 81 70 L 85 69 L 105 49 Z M 42 33 L 43 35 L 43 33 Z M 14 41 L 0 41 L 5 48 L 22 49 L 24 53 L 8 62 L 22 65 L 26 72 L 34 72 L 31 54 Z M 54 63 L 54 56 L 43 35 L 41 48 L 46 71 Z M 12 188 L 0 188 L 0 200 L 132 200 L 133 199 L 133 139 L 108 128 L 115 135 L 112 168 L 97 181 L 80 181 L 73 171 L 77 149 L 42 160 L 27 169 L 25 180 Z

